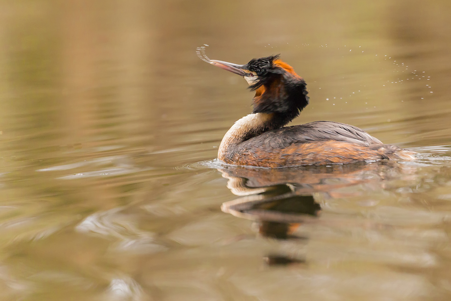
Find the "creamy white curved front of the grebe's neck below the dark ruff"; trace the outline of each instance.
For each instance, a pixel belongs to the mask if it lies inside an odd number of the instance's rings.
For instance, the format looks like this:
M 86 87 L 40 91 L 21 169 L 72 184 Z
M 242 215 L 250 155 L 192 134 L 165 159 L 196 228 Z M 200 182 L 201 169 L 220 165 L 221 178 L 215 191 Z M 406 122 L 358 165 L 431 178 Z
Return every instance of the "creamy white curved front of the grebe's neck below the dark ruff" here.
M 222 138 L 218 149 L 218 159 L 223 160 L 226 157 L 227 151 L 230 150 L 230 147 L 238 145 L 246 138 L 249 139 L 249 134 L 262 134 L 271 118 L 272 114 L 255 113 L 235 121 L 235 124 L 232 125 L 224 135 L 224 138 Z

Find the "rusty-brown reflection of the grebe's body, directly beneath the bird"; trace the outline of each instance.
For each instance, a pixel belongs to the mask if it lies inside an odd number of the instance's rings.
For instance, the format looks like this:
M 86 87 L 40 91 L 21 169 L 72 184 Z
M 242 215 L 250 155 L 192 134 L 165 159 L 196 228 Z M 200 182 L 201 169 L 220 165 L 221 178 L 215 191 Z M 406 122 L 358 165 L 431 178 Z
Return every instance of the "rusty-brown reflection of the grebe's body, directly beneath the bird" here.
M 364 184 L 368 189 L 373 186 L 380 189 L 386 185 L 385 180 L 414 177 L 411 167 L 391 161 L 277 169 L 223 166 L 219 171 L 229 179 L 227 187 L 235 195 L 258 194 L 288 185 L 299 193 L 325 192 L 339 197 L 334 192 L 338 188 Z

